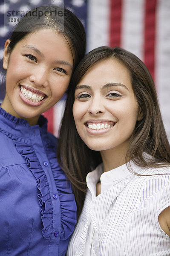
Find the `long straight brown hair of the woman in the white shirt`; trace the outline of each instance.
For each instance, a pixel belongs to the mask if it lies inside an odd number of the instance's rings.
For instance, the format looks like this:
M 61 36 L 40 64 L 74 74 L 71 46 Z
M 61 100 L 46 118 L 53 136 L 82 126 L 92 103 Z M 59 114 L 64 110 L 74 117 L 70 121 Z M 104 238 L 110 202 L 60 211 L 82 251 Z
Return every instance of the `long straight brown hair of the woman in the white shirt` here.
M 84 203 L 86 175 L 92 167 L 101 163 L 101 155 L 99 151 L 87 148 L 76 130 L 72 114 L 75 87 L 90 67 L 108 58 L 117 59 L 129 70 L 138 107 L 143 113 L 143 119 L 136 122 L 127 151 L 127 162 L 133 160 L 143 167 L 158 167 L 160 163 L 170 163 L 170 145 L 162 122 L 155 85 L 147 67 L 134 54 L 119 47 L 98 47 L 92 50 L 82 59 L 73 74 L 58 145 L 58 160 L 74 185 L 79 213 Z M 144 152 L 151 155 L 150 161 L 144 157 Z

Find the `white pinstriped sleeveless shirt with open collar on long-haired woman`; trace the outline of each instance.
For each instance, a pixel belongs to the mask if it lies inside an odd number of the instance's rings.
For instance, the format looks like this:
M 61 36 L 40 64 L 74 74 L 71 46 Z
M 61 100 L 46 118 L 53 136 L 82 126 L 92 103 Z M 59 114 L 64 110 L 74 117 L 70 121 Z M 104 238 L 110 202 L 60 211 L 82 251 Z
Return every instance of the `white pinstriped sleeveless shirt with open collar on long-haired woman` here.
M 170 256 L 170 237 L 158 223 L 170 205 L 170 167 L 132 166 L 138 174 L 161 175 L 137 176 L 126 164 L 104 173 L 100 165 L 87 175 L 84 208 L 67 256 Z

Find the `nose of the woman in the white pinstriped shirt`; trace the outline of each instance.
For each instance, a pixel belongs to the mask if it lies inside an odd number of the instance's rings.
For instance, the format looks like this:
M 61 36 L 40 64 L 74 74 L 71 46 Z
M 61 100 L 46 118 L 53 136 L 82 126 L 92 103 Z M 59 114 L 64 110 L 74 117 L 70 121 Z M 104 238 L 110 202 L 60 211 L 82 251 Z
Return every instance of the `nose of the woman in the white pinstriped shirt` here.
M 89 102 L 89 114 L 96 116 L 102 115 L 105 113 L 105 107 L 101 99 L 98 97 L 93 98 L 91 102 Z

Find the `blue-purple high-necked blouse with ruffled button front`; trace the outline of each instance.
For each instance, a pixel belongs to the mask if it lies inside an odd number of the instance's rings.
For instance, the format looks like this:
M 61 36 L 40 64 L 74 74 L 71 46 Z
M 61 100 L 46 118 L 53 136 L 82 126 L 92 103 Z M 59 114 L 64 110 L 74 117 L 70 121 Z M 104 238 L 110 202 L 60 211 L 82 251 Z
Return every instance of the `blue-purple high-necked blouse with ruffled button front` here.
M 76 224 L 72 187 L 47 120 L 29 126 L 0 108 L 0 255 L 64 256 Z

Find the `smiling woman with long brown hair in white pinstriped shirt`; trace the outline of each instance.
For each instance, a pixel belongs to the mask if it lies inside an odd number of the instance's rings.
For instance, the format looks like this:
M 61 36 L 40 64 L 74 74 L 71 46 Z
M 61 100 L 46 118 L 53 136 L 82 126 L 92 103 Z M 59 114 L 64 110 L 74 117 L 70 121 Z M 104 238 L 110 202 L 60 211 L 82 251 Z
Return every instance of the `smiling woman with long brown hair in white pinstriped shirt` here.
M 147 67 L 99 47 L 71 83 L 58 157 L 75 177 L 79 212 L 85 177 L 87 191 L 67 255 L 169 256 L 170 145 Z

